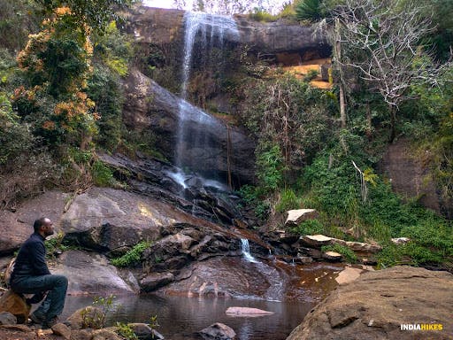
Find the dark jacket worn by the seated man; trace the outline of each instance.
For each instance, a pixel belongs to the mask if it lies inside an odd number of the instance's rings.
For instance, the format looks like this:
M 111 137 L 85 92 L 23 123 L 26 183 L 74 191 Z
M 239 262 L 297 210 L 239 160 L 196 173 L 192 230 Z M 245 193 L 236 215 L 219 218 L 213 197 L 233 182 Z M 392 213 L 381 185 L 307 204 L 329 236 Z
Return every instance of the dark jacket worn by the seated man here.
M 46 264 L 44 237 L 33 233 L 20 247 L 11 275 L 12 288 L 21 278 L 47 274 L 50 274 L 50 271 Z

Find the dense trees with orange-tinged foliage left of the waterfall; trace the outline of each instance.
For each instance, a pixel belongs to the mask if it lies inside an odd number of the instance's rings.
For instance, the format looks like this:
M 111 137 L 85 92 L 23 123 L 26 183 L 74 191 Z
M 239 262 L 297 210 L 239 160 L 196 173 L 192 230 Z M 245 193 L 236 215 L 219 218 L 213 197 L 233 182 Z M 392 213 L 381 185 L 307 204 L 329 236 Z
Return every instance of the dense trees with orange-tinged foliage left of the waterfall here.
M 1 207 L 44 187 L 112 184 L 95 151 L 134 148 L 120 90 L 132 44 L 112 20 L 127 4 L 1 2 Z

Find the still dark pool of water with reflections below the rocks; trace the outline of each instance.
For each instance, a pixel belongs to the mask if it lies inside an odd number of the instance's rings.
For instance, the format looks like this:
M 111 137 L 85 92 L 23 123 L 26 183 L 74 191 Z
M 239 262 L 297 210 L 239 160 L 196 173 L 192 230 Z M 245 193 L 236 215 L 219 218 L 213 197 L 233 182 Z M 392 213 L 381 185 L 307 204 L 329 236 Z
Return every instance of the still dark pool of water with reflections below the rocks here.
M 91 305 L 91 297 L 68 297 L 64 317 L 78 308 Z M 283 340 L 302 321 L 313 303 L 280 303 L 265 300 L 235 298 L 185 298 L 161 295 L 126 296 L 116 298 L 121 308 L 107 315 L 107 322 L 146 322 L 157 315 L 157 330 L 165 339 L 189 340 L 194 333 L 214 322 L 222 322 L 234 329 L 238 340 Z M 264 309 L 274 314 L 242 318 L 226 315 L 230 306 Z

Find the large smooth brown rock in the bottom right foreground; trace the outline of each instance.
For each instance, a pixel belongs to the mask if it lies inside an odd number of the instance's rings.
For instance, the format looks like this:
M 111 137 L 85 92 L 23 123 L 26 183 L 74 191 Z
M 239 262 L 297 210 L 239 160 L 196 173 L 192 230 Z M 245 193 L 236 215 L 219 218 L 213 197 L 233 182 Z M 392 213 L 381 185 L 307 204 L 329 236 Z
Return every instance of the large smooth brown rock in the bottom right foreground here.
M 287 340 L 452 339 L 453 275 L 392 267 L 362 274 L 334 290 Z M 402 324 L 442 330 L 403 331 Z

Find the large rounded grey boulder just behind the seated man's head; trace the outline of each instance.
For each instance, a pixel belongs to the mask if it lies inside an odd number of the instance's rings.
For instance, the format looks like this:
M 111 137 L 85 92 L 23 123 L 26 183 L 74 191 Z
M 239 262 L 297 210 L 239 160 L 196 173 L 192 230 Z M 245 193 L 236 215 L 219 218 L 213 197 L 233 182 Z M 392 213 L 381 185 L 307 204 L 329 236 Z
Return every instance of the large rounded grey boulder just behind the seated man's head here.
M 73 199 L 61 223 L 67 240 L 96 251 L 114 251 L 156 240 L 174 221 L 166 211 L 161 204 L 124 190 L 93 188 Z

